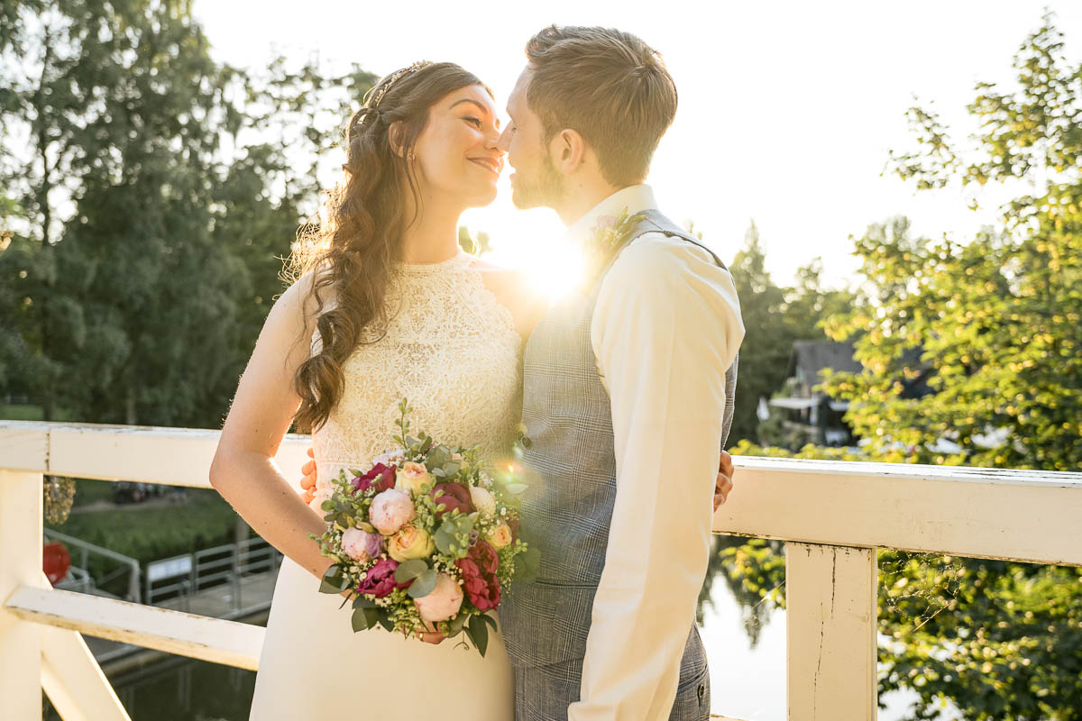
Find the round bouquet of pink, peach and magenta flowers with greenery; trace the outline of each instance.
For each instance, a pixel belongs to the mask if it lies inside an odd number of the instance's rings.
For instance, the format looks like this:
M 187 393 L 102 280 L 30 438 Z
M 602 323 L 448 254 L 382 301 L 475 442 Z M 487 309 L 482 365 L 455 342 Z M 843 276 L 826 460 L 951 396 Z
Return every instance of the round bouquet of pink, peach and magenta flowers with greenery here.
M 477 448 L 411 436 L 406 399 L 398 410 L 397 448 L 366 470 L 340 471 L 322 503 L 327 531 L 309 537 L 334 563 L 319 590 L 352 591 L 354 631 L 465 633 L 484 656 L 496 628 L 486 613 L 524 566 L 526 486 L 510 469 L 490 472 Z

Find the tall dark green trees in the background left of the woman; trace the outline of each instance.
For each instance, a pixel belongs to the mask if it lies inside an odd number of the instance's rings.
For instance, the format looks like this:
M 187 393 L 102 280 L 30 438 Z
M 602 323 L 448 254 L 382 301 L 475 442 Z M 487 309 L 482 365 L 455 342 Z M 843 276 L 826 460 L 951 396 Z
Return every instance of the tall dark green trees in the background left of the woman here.
M 91 422 L 216 426 L 316 213 L 320 164 L 375 77 L 318 58 L 219 66 L 181 0 L 9 14 L 4 386 L 40 397 L 47 419 L 61 404 Z M 21 135 L 37 143 L 26 157 Z

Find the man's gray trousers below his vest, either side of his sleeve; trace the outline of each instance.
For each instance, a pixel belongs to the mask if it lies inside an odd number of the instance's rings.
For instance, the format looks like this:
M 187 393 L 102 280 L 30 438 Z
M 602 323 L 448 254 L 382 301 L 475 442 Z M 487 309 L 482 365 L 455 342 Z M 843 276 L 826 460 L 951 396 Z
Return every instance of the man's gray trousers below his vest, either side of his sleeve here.
M 691 632 L 698 641 L 698 629 Z M 546 666 L 515 667 L 515 721 L 567 721 L 567 707 L 579 700 L 582 659 Z M 669 721 L 710 721 L 710 669 L 704 655 L 681 664 Z

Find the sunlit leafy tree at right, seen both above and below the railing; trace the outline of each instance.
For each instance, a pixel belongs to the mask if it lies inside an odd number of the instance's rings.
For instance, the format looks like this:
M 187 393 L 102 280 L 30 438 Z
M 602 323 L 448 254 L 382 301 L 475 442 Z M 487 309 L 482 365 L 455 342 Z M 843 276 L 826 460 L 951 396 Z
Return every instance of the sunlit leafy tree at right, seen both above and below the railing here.
M 853 339 L 865 370 L 824 387 L 849 399 L 847 419 L 870 441 L 862 459 L 1082 469 L 1082 68 L 1061 50 L 1046 16 L 1015 57 L 1018 88 L 978 85 L 968 157 L 933 114 L 911 111 L 920 150 L 894 168 L 920 188 L 1038 190 L 968 243 L 914 238 L 905 218 L 855 239 L 867 282 L 827 330 Z M 931 392 L 914 398 L 906 385 L 920 377 Z M 753 590 L 781 580 L 763 543 L 726 558 Z M 965 719 L 1082 719 L 1082 570 L 882 551 L 880 580 L 880 692 L 915 692 L 910 718 L 941 718 L 946 698 Z

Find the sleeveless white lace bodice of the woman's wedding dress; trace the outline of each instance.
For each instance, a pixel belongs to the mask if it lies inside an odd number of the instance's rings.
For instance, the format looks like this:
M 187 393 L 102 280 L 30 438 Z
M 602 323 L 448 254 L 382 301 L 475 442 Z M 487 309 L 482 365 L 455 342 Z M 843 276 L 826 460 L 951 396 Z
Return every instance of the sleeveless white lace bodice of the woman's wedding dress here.
M 414 432 L 480 445 L 489 460 L 510 454 L 522 411 L 522 339 L 472 262 L 460 252 L 443 263 L 396 265 L 385 332 L 370 331 L 366 341 L 379 339 L 345 361 L 344 392 L 313 435 L 313 508 L 340 469 L 367 467 L 388 450 L 404 397 Z

